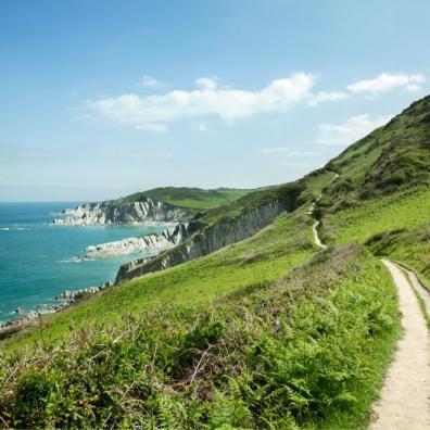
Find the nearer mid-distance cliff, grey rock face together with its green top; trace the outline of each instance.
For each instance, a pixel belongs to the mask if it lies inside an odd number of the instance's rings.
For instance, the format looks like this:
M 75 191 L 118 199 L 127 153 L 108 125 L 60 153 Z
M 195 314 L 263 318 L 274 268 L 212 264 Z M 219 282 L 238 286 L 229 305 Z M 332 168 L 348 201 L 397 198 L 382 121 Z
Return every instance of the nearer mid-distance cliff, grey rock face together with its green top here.
M 184 226 L 186 240 L 182 243 L 155 257 L 124 264 L 116 281 L 173 267 L 246 239 L 283 211 L 292 212 L 315 199 L 334 176 L 329 170 L 315 170 L 295 182 L 254 191 L 232 203 L 198 214 Z

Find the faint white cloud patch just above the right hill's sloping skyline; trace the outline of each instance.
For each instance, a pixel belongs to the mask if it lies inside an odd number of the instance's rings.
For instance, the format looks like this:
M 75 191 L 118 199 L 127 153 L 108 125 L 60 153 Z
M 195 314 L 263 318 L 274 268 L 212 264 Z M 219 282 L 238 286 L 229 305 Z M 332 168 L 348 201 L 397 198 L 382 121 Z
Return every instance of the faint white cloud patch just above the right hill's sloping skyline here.
M 342 124 L 321 124 L 317 143 L 324 146 L 343 146 L 365 137 L 375 128 L 387 124 L 391 116 L 376 116 L 370 118 L 369 115 L 351 116 Z

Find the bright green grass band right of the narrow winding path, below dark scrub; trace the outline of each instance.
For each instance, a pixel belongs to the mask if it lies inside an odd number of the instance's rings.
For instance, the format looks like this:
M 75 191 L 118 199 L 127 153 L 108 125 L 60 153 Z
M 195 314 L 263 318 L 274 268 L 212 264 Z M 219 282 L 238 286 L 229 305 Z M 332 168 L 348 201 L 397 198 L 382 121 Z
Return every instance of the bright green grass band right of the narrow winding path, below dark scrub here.
M 430 189 L 419 188 L 327 214 L 322 219 L 322 235 L 330 243 L 363 243 L 377 233 L 429 222 Z

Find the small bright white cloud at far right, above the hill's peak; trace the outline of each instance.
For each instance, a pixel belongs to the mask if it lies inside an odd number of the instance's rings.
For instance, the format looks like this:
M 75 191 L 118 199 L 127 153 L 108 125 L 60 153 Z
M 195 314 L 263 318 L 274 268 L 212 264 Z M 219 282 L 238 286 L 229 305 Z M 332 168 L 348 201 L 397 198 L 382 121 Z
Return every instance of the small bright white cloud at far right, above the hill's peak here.
M 394 88 L 404 88 L 408 91 L 416 91 L 421 89 L 421 84 L 426 83 L 426 76 L 417 75 L 402 75 L 381 73 L 374 79 L 357 80 L 347 86 L 347 89 L 353 93 L 378 93 L 391 91 Z

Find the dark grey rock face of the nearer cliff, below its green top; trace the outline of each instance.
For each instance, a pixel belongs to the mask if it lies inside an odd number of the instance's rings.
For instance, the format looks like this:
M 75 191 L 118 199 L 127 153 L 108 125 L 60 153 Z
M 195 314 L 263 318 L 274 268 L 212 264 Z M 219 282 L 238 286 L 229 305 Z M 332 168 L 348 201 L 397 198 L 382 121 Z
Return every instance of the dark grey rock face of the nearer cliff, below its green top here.
M 116 282 L 176 266 L 249 238 L 261 228 L 270 224 L 284 210 L 286 206 L 282 203 L 270 202 L 263 206 L 249 210 L 235 219 L 207 226 L 197 231 L 189 240 L 186 240 L 180 245 L 156 257 L 139 258 L 122 265 L 116 277 Z

